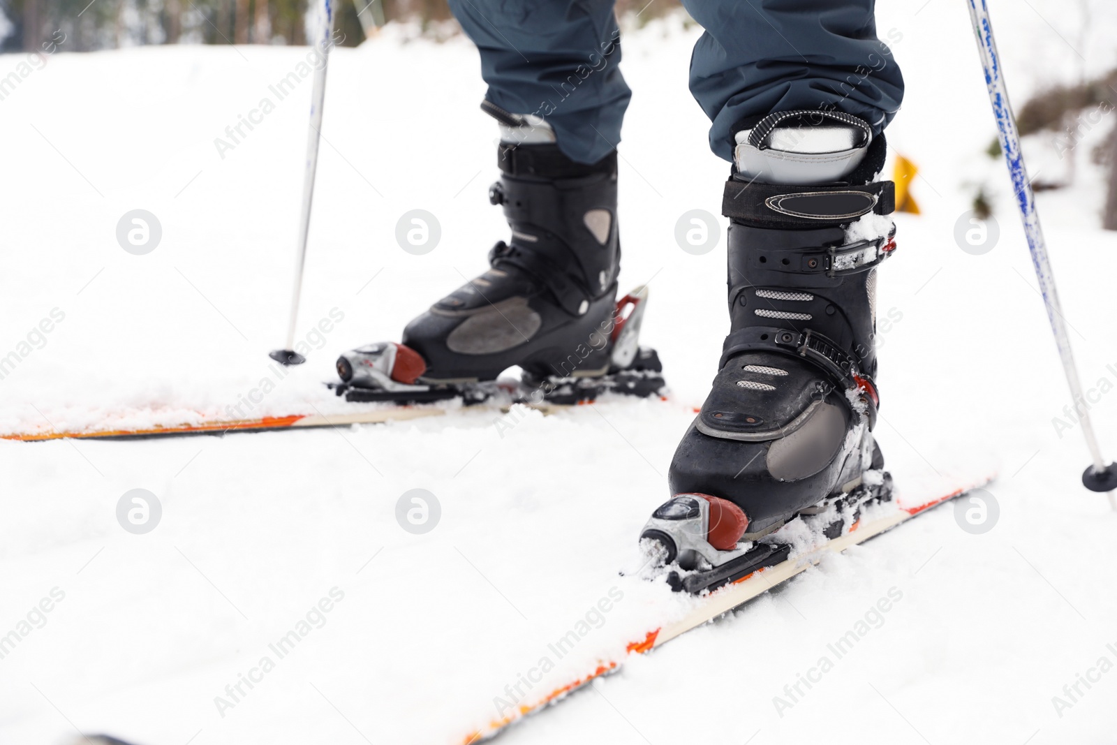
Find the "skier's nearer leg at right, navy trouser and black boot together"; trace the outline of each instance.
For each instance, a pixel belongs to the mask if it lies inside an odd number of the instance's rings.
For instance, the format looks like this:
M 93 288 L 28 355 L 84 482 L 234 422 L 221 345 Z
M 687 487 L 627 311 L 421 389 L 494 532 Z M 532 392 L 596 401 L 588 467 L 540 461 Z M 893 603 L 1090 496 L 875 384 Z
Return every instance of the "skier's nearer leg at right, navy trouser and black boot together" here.
M 708 504 L 732 514 L 737 537 L 758 538 L 828 499 L 887 497 L 870 432 L 873 305 L 876 266 L 895 249 L 892 184 L 878 176 L 901 79 L 871 0 L 688 8 L 710 29 L 693 90 L 712 147 L 734 163 L 722 203 L 731 333 L 670 468 L 672 494 L 703 496 L 660 512 Z M 653 519 L 648 535 L 671 525 Z

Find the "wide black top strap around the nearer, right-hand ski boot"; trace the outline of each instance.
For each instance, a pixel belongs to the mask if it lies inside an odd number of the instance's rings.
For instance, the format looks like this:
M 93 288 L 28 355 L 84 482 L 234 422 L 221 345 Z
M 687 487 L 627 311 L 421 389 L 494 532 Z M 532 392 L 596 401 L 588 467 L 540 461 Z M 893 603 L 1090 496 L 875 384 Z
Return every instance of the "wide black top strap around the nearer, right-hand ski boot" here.
M 869 212 L 890 214 L 895 209 L 891 181 L 863 187 L 789 187 L 729 179 L 722 198 L 722 214 L 754 228 L 831 227 Z

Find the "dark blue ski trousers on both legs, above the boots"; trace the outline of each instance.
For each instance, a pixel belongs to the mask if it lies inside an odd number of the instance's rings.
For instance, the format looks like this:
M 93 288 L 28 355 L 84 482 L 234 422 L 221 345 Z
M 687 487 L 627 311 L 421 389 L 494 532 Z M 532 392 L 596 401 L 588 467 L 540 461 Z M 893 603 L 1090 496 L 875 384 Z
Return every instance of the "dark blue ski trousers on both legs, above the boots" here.
M 618 68 L 613 0 L 449 3 L 480 51 L 488 101 L 544 117 L 575 161 L 596 162 L 617 146 L 631 90 Z M 682 4 L 706 29 L 690 58 L 690 93 L 725 160 L 736 132 L 774 112 L 837 109 L 879 133 L 899 109 L 904 78 L 877 38 L 875 0 Z

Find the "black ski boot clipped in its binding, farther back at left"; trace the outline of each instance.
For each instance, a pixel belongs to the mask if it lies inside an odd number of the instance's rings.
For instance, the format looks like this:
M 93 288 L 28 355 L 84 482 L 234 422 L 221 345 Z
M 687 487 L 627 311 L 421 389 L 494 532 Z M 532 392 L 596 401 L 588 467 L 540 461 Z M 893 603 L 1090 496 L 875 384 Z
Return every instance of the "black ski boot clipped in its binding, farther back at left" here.
M 572 404 L 604 391 L 651 395 L 663 386 L 658 356 L 640 348 L 647 288 L 617 302 L 617 152 L 569 159 L 548 124 L 485 102 L 500 125 L 500 180 L 512 239 L 489 269 L 408 324 L 403 343 L 343 354 L 338 394 L 414 403 L 460 398 Z M 518 365 L 523 376 L 497 382 Z

